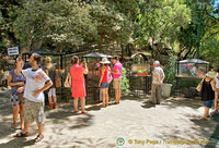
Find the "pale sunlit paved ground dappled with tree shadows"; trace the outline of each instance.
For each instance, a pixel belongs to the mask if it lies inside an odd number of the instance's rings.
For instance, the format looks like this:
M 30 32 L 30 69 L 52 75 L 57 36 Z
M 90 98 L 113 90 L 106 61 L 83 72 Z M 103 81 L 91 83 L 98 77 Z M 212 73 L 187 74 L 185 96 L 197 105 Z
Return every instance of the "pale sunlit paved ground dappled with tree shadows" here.
M 200 120 L 204 108 L 197 100 L 170 98 L 153 106 L 149 98 L 124 97 L 107 108 L 87 106 L 89 114 L 76 114 L 72 103 L 59 103 L 56 110 L 46 109 L 45 138 L 34 144 L 35 123 L 28 137 L 13 137 L 9 97 L 0 96 L 0 148 L 219 147 L 219 115 Z

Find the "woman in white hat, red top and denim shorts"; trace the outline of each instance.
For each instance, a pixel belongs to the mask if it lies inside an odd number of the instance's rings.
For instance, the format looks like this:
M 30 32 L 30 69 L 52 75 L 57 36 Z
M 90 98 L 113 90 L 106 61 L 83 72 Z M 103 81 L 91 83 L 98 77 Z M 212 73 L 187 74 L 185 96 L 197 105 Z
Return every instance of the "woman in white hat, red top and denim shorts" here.
M 108 86 L 113 79 L 111 75 L 111 67 L 108 66 L 111 62 L 107 60 L 107 58 L 103 58 L 100 63 L 102 66 L 100 70 L 99 87 L 101 87 L 102 92 L 102 107 L 106 107 L 108 106 Z

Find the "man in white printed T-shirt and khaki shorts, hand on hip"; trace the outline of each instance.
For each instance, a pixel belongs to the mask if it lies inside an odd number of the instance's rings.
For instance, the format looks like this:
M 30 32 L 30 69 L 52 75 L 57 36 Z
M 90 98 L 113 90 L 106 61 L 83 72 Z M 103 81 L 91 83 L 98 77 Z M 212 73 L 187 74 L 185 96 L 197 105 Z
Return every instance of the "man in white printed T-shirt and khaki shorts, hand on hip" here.
M 15 137 L 25 137 L 28 135 L 28 126 L 33 121 L 36 121 L 38 125 L 38 135 L 35 141 L 39 141 L 44 138 L 44 94 L 53 83 L 46 73 L 39 69 L 42 57 L 37 53 L 33 53 L 28 60 L 32 67 L 22 70 L 23 75 L 26 78 L 24 97 L 26 102 L 24 106 L 24 130 L 18 133 Z

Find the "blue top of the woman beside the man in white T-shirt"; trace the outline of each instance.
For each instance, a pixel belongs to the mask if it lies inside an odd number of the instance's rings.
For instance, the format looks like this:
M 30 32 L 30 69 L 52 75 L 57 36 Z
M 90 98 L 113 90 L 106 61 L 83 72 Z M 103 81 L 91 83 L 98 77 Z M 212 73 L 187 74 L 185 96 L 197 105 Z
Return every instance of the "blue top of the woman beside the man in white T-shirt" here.
M 14 73 L 14 70 L 10 71 L 9 72 L 12 76 L 12 83 L 19 83 L 19 82 L 25 82 L 25 77 L 24 75 L 16 75 Z M 16 92 L 18 88 L 21 87 L 21 86 L 12 86 L 11 87 L 11 94 L 13 95 L 14 92 Z

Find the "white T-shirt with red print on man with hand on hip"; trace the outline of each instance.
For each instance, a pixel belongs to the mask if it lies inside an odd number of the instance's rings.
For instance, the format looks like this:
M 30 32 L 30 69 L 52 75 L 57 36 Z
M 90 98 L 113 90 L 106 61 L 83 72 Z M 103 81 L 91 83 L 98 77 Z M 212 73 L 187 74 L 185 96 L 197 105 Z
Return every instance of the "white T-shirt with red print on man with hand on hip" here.
M 43 88 L 45 83 L 50 81 L 50 78 L 42 69 L 26 69 L 22 70 L 22 73 L 26 77 L 24 98 L 34 102 L 44 102 L 44 94 L 41 92 L 38 96 L 33 96 L 33 91 Z

